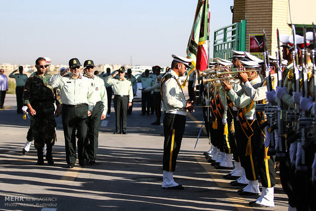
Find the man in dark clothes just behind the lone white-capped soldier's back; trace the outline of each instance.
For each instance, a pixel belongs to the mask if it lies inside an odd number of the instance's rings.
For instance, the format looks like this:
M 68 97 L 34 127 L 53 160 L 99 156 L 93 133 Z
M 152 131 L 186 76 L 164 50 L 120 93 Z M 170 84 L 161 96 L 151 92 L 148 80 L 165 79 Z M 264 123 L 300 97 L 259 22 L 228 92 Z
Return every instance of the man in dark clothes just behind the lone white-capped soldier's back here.
M 154 105 L 154 111 L 156 114 L 156 120 L 152 122 L 152 125 L 160 125 L 160 118 L 161 118 L 161 93 L 160 93 L 160 82 L 162 80 L 162 77 L 164 76 L 164 73 L 160 73 L 161 67 L 160 66 L 154 66 L 152 67 L 153 73 L 156 75 L 155 77 L 155 83 L 152 87 L 147 87 L 144 91 L 151 91 L 152 92 L 152 99 L 153 99 L 153 105 Z

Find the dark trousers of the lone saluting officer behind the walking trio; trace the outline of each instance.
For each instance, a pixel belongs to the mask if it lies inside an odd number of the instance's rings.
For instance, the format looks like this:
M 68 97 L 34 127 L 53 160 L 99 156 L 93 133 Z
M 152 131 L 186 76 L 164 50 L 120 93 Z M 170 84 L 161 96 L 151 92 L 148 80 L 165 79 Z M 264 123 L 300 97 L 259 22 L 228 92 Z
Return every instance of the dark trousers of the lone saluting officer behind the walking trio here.
M 115 132 L 126 133 L 128 96 L 114 95 Z

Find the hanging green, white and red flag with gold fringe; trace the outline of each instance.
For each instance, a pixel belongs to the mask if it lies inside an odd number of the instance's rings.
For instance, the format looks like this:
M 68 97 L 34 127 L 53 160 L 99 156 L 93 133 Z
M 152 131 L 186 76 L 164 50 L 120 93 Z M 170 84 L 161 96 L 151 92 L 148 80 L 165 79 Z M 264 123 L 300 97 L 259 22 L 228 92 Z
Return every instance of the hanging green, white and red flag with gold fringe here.
M 204 71 L 208 67 L 208 36 L 209 36 L 209 4 L 208 0 L 198 0 L 192 31 L 187 47 L 187 58 L 192 59 L 188 76 L 196 70 Z M 198 74 L 199 75 L 199 74 Z M 187 79 L 188 79 L 187 76 Z M 186 79 L 186 81 L 187 81 Z M 185 86 L 186 81 L 182 84 Z

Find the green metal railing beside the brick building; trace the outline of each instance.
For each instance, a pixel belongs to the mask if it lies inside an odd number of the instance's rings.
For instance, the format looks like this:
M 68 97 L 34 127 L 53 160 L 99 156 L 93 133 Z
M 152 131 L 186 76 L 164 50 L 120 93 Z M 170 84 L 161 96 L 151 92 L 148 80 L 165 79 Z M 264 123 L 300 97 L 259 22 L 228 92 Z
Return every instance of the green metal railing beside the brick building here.
M 214 32 L 213 58 L 228 59 L 230 50 L 246 50 L 246 20 L 227 25 Z

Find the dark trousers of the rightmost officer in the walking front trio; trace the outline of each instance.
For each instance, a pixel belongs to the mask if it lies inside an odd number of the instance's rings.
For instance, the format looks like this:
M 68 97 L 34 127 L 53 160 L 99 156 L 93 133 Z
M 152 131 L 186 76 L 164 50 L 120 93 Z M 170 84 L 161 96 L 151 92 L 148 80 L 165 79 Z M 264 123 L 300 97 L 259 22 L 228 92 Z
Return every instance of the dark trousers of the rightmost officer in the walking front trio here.
M 88 117 L 88 135 L 85 143 L 86 159 L 95 159 L 98 151 L 99 127 L 101 124 L 102 104 L 98 101 L 93 107 L 92 114 Z

